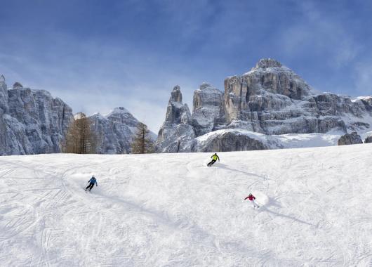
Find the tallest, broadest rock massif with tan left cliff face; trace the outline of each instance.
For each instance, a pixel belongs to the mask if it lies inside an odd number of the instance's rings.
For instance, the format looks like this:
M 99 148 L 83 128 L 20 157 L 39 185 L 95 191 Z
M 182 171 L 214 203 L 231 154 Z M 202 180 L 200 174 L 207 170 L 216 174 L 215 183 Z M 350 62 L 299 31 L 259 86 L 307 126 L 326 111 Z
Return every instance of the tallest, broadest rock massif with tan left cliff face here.
M 368 128 L 363 116 L 371 115 L 362 100 L 318 93 L 272 59 L 260 60 L 241 77 L 225 79 L 224 100 L 227 126 L 244 124 L 265 134 L 346 132 Z M 353 121 L 347 124 L 344 115 Z

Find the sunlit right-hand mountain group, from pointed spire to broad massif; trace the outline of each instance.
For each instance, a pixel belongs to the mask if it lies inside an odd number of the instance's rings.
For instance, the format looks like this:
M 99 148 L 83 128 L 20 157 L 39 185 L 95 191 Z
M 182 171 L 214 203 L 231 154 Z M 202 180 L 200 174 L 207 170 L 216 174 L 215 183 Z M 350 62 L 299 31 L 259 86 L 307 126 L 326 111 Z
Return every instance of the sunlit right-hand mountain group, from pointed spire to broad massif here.
M 372 131 L 371 96 L 350 98 L 320 93 L 298 74 L 270 58 L 260 60 L 241 77 L 227 77 L 224 93 L 210 84 L 202 84 L 194 92 L 192 114 L 182 103 L 179 87 L 178 95 L 178 99 L 171 97 L 166 114 L 168 118 L 171 112 L 173 119 L 166 119 L 159 131 L 159 152 L 209 151 L 211 145 L 201 140 L 213 143 L 213 138 L 219 143 L 213 145 L 216 151 L 272 148 L 272 143 L 252 138 L 258 136 L 255 133 L 263 133 L 265 139 L 272 140 L 272 135 L 290 133 L 341 136 L 348 131 Z M 251 133 L 245 134 L 248 131 Z M 205 134 L 208 136 L 201 138 Z

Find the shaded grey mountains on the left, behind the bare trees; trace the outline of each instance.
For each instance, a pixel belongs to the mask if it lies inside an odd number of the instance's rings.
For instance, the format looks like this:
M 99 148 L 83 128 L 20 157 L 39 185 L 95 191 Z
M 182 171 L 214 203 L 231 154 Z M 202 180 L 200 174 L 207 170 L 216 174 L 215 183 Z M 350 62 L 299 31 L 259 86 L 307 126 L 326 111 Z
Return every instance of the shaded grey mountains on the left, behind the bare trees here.
M 0 155 L 29 155 L 61 152 L 61 144 L 74 117 L 72 109 L 45 90 L 23 88 L 15 82 L 8 89 L 0 76 Z M 108 115 L 90 117 L 97 136 L 96 152 L 131 152 L 131 141 L 138 125 L 125 108 L 114 108 Z M 150 132 L 155 140 L 156 136 Z

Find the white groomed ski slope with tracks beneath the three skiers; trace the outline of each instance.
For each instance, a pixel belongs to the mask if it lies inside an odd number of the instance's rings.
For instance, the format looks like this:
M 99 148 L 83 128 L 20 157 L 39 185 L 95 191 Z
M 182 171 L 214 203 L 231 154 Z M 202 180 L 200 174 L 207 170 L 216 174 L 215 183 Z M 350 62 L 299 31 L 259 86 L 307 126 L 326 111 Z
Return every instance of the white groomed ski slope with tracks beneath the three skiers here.
M 0 157 L 0 266 L 372 266 L 372 144 L 212 154 Z

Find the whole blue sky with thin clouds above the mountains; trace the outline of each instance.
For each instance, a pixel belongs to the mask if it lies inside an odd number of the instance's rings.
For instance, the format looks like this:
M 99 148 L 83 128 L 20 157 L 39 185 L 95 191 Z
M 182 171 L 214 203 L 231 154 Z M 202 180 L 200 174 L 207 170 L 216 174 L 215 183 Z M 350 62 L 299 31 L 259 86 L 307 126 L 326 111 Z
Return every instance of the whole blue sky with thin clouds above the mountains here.
M 275 58 L 320 91 L 372 95 L 372 1 L 4 1 L 0 74 L 74 112 L 124 106 L 157 132 L 171 89 L 192 108 Z

